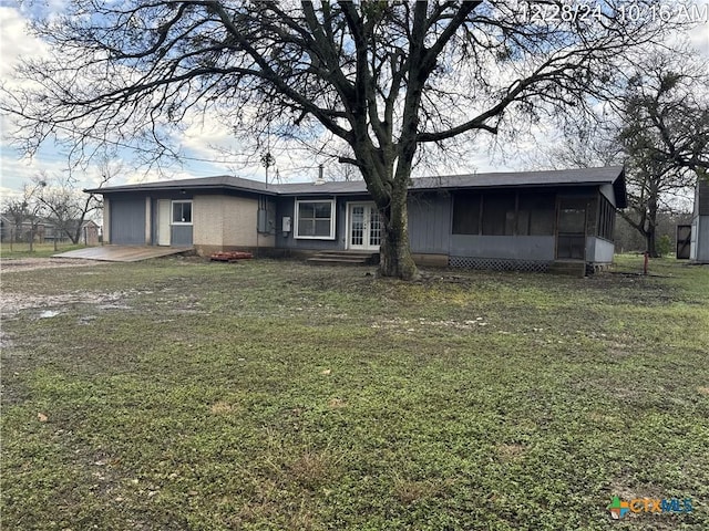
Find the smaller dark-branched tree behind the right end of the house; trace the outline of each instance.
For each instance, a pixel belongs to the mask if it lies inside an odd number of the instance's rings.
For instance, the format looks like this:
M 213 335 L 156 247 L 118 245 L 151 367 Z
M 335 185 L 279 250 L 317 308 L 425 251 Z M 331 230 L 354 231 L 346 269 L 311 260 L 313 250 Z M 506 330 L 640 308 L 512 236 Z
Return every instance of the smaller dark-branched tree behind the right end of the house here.
M 657 257 L 658 214 L 709 169 L 709 65 L 649 56 L 627 84 L 620 118 L 629 207 L 621 215 Z

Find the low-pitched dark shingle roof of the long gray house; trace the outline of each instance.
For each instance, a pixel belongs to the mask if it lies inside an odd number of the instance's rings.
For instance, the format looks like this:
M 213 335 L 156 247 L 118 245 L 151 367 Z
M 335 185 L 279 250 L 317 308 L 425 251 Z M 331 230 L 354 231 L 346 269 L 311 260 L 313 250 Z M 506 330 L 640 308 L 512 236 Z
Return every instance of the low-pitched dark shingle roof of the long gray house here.
M 613 185 L 618 207 L 626 207 L 625 173 L 623 166 L 417 177 L 411 179 L 409 189 L 435 190 L 588 185 Z M 194 179 L 161 180 L 155 183 L 111 186 L 105 188 L 90 188 L 84 191 L 91 194 L 113 194 L 122 191 L 171 189 L 228 189 L 235 191 L 268 194 L 274 196 L 367 194 L 367 186 L 363 180 L 289 183 L 284 185 L 266 186 L 266 184 L 261 181 L 243 179 L 240 177 L 229 175 L 199 177 Z

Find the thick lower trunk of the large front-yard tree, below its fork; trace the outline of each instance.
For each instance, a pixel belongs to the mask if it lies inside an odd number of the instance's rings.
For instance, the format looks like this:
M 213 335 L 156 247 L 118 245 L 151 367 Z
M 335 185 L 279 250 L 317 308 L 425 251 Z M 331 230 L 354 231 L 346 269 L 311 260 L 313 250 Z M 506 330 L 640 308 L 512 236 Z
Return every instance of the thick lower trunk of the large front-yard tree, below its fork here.
M 379 272 L 382 277 L 413 280 L 419 277 L 419 271 L 409 247 L 407 190 L 398 189 L 394 187 L 389 206 L 379 211 L 382 223 Z

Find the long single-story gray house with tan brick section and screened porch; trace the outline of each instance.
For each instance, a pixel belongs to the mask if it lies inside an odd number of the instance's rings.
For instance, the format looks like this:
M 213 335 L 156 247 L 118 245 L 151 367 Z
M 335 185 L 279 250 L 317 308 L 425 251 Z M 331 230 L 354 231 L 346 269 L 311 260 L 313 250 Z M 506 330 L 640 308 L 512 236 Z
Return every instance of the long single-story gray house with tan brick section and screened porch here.
M 274 254 L 379 249 L 379 214 L 363 181 L 266 185 L 232 176 L 85 190 L 104 198 L 113 244 L 234 249 Z M 411 179 L 414 260 L 451 267 L 544 271 L 613 261 L 624 168 L 494 173 Z

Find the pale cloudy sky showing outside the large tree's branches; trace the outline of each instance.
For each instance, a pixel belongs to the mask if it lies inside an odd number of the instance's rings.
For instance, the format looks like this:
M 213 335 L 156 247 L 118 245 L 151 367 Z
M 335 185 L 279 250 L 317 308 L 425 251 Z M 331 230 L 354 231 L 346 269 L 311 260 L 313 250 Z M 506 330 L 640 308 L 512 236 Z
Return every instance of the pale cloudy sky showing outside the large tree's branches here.
M 35 3 L 22 3 L 18 1 L 0 0 L 0 80 L 8 80 L 12 69 L 20 59 L 27 59 L 41 54 L 45 45 L 32 37 L 27 30 L 27 17 L 29 10 L 41 9 L 48 12 L 60 10 L 65 0 L 44 0 Z M 676 4 L 677 2 L 671 2 Z M 685 2 L 690 4 L 690 2 Z M 709 2 L 692 3 L 700 10 L 709 9 Z M 709 23 L 703 23 L 689 35 L 695 48 L 709 58 Z M 540 149 L 538 143 L 553 143 L 555 135 L 548 131 L 540 132 L 534 142 L 523 142 L 515 146 L 518 157 L 502 157 L 495 149 L 491 149 L 489 143 L 479 143 L 470 152 L 465 163 L 466 173 L 522 170 L 525 160 L 528 164 L 531 156 Z M 55 145 L 43 145 L 40 152 L 28 159 L 11 145 L 12 125 L 8 116 L 0 116 L 0 197 L 17 196 L 23 184 L 33 176 L 40 174 L 61 177 L 65 175 L 66 155 Z M 192 177 L 205 177 L 212 175 L 237 175 L 244 178 L 263 180 L 264 167 L 260 165 L 244 165 L 230 156 L 224 155 L 224 149 L 236 149 L 237 139 L 229 128 L 204 119 L 195 119 L 186 131 L 175 138 L 181 146 L 185 158 L 181 166 L 174 166 L 158 173 L 156 169 L 134 168 L 123 165 L 122 171 L 111 185 L 138 183 L 162 179 L 179 179 Z M 120 153 L 122 157 L 130 159 L 131 153 Z M 290 155 L 290 156 L 289 156 Z M 528 155 L 528 156 L 527 156 Z M 115 163 L 117 165 L 117 162 Z M 302 154 L 279 154 L 276 159 L 278 175 L 284 181 L 309 181 L 318 176 L 318 168 L 311 157 Z M 326 178 L 330 167 L 326 168 Z M 441 173 L 445 173 L 444 169 Z M 75 174 L 76 175 L 76 174 Z M 80 184 L 84 187 L 95 186 L 99 183 L 100 170 L 97 166 L 88 167 L 80 173 Z M 275 168 L 270 168 L 271 179 Z

